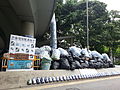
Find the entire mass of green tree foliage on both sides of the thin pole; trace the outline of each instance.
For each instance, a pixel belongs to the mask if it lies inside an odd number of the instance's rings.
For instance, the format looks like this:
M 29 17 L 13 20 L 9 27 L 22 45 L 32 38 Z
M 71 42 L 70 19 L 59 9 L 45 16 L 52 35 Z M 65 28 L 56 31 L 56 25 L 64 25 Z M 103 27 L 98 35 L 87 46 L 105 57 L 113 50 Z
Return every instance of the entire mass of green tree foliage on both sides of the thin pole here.
M 103 52 L 110 47 L 114 52 L 120 45 L 120 12 L 106 9 L 100 1 L 89 1 L 90 49 Z M 74 36 L 74 43 L 86 46 L 86 2 L 85 0 L 58 0 L 56 4 L 57 34 Z M 66 40 L 70 44 L 70 40 Z

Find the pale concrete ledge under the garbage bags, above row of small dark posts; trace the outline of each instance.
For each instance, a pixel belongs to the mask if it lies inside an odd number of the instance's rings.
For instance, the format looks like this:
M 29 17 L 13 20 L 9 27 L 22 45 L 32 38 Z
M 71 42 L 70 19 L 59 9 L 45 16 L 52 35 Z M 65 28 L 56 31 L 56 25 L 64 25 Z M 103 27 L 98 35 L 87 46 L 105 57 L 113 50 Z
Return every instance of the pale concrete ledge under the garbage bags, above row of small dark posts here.
M 76 69 L 70 70 L 38 70 L 38 71 L 8 71 L 0 72 L 0 89 L 25 87 L 27 81 L 34 77 L 55 77 L 63 75 L 75 75 L 75 74 L 88 74 L 97 72 L 120 72 L 119 68 L 106 68 L 106 69 Z

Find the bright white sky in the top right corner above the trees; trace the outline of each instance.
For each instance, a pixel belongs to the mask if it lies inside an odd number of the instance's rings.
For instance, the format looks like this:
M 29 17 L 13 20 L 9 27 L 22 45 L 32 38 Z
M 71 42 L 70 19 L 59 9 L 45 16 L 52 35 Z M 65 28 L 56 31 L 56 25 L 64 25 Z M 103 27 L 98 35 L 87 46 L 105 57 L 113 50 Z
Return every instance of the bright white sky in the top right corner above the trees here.
M 120 11 L 120 0 L 99 0 L 107 4 L 107 9 Z

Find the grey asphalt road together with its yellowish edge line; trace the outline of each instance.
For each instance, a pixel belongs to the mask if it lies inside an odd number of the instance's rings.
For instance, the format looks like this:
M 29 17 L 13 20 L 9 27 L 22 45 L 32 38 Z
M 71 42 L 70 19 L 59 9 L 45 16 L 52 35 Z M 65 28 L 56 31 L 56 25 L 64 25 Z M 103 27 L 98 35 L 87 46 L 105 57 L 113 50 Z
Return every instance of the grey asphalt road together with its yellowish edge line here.
M 69 81 L 65 83 L 21 88 L 20 90 L 120 90 L 120 76 Z

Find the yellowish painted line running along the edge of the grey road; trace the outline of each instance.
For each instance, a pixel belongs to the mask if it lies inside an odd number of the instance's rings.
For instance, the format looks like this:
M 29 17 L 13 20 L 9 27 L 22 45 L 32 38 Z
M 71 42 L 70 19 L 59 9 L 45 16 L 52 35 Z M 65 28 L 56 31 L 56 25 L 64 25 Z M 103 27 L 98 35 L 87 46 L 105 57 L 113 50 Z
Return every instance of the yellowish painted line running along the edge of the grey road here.
M 19 88 L 19 89 L 12 89 L 12 90 L 41 90 L 41 89 L 47 89 L 47 88 L 54 88 L 54 87 L 61 87 L 61 86 L 68 86 L 68 85 L 74 85 L 74 84 L 83 84 L 83 83 L 89 83 L 89 82 L 96 82 L 96 81 L 102 81 L 102 80 L 111 80 L 111 79 L 117 79 L 120 78 L 120 76 L 114 76 L 114 77 L 105 77 L 105 78 L 98 78 L 98 79 L 88 79 L 88 80 L 79 80 L 76 82 L 67 82 L 67 83 L 59 83 L 59 84 L 50 84 L 50 85 L 43 85 L 43 86 L 33 86 L 33 87 L 27 87 L 27 88 Z

